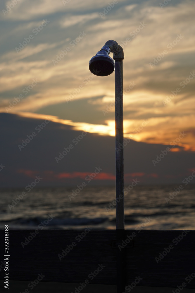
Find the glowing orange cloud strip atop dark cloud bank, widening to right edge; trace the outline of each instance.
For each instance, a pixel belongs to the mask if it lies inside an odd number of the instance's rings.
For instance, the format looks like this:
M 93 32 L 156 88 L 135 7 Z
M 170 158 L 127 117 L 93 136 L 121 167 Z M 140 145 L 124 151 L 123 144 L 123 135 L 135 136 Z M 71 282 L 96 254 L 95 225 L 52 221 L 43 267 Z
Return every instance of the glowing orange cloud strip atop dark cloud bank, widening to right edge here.
M 0 108 L 0 113 L 5 112 L 4 108 Z M 87 122 L 73 122 L 72 120 L 60 119 L 57 116 L 37 114 L 31 112 L 22 112 L 22 111 L 10 111 L 10 113 L 16 114 L 20 117 L 28 117 L 33 119 L 47 119 L 51 120 L 54 123 L 68 125 L 72 130 L 77 131 L 86 131 L 89 133 L 97 133 L 99 135 L 108 135 L 115 136 L 115 121 L 114 120 L 105 120 L 105 124 L 92 124 Z M 189 116 L 188 118 L 178 117 L 155 117 L 146 120 L 134 120 L 126 119 L 124 120 L 124 137 L 133 139 L 135 141 L 146 142 L 148 144 L 164 144 L 169 145 L 171 142 L 175 143 L 175 148 L 171 148 L 170 151 L 195 151 L 194 147 L 194 135 L 189 132 L 188 128 L 194 129 L 195 118 L 194 115 Z M 190 120 L 190 123 L 188 121 Z M 146 121 L 146 122 L 144 122 Z M 146 126 L 142 126 L 145 125 Z M 175 124 L 178 125 L 178 128 L 175 129 Z M 186 127 L 184 127 L 186 125 Z M 139 131 L 139 127 L 141 130 Z M 138 128 L 136 128 L 138 127 Z M 142 129 L 143 128 L 143 129 Z M 157 128 L 158 132 L 157 132 Z M 137 130 L 136 130 L 137 129 Z M 134 133 L 134 130 L 135 133 Z M 180 135 L 180 130 L 182 130 L 186 136 L 184 136 L 181 142 L 177 143 L 175 140 Z M 172 146 L 172 144 L 170 144 Z

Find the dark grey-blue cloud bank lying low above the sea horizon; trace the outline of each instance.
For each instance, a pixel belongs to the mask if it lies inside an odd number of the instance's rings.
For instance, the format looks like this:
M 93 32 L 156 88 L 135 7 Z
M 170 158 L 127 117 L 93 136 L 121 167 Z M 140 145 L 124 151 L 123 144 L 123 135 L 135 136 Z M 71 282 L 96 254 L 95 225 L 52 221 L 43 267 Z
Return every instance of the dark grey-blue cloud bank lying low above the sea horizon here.
M 49 122 L 38 132 L 36 127 L 39 128 L 38 125 L 44 120 L 13 114 L 1 114 L 0 122 L 0 163 L 5 166 L 0 173 L 1 187 L 25 187 L 35 176 L 43 178 L 39 186 L 76 186 L 84 181 L 82 174 L 91 174 L 99 166 L 103 178 L 108 179 L 94 180 L 92 183 L 115 184 L 112 178 L 115 175 L 114 137 L 88 133 L 76 145 L 73 139 L 82 135 L 82 131 L 71 130 L 70 126 Z M 32 132 L 36 136 L 20 151 L 18 145 Z M 55 157 L 59 157 L 64 147 L 68 148 L 70 144 L 73 149 L 57 163 Z M 181 183 L 191 174 L 189 169 L 195 167 L 195 153 L 168 152 L 154 166 L 152 160 L 156 160 L 162 151 L 165 153 L 166 147 L 131 140 L 124 148 L 124 171 L 128 174 L 125 182 L 130 183 L 137 178 L 141 184 Z

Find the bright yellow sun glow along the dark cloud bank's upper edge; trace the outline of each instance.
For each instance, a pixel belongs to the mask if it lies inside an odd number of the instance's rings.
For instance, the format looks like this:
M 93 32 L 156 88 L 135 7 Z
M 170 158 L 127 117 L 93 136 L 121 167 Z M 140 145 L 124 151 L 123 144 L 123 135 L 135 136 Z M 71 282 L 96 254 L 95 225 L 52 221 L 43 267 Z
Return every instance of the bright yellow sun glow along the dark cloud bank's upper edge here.
M 75 131 L 85 131 L 89 133 L 94 133 L 103 136 L 115 136 L 115 120 L 105 120 L 105 125 L 103 124 L 92 124 L 92 123 L 85 123 L 85 122 L 73 122 L 72 120 L 65 120 L 60 119 L 57 116 L 51 115 L 44 115 L 44 114 L 37 114 L 31 112 L 12 112 L 12 114 L 18 115 L 20 117 L 26 118 L 33 118 L 33 119 L 43 119 L 43 120 L 50 120 L 54 123 L 59 123 L 62 125 L 68 125 L 71 127 L 72 130 Z M 167 120 L 161 118 L 161 124 L 163 125 Z M 180 132 L 175 130 L 175 133 L 169 135 L 167 133 L 167 127 L 164 125 L 160 131 L 156 131 L 156 127 L 158 126 L 157 119 L 142 119 L 142 120 L 124 120 L 124 137 L 135 140 L 137 142 L 145 142 L 149 144 L 163 144 L 163 145 L 171 145 L 171 142 L 174 140 L 171 137 L 175 137 L 177 139 Z M 177 145 L 179 147 L 177 147 Z M 171 151 L 195 151 L 195 147 L 193 145 L 193 137 L 188 136 L 188 139 L 185 137 L 180 140 L 180 142 L 175 143 L 175 148 L 172 148 Z

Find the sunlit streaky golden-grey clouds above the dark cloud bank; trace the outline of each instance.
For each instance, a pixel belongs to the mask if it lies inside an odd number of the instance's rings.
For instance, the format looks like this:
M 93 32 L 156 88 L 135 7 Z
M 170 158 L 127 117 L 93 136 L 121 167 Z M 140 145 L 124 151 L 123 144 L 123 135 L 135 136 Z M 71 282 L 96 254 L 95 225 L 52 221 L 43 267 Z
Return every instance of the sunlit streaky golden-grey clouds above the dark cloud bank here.
M 10 3 L 4 1 L 0 7 Z M 184 131 L 187 136 L 180 147 L 194 149 L 194 136 L 188 131 L 194 129 L 195 79 L 180 86 L 195 68 L 194 1 L 172 0 L 163 9 L 154 1 L 120 1 L 101 18 L 99 13 L 106 5 L 104 1 L 71 0 L 64 6 L 62 1 L 21 0 L 5 16 L 1 13 L 6 25 L 1 36 L 0 111 L 6 112 L 5 108 L 24 94 L 23 89 L 38 79 L 8 113 L 51 115 L 72 129 L 114 136 L 114 107 L 106 115 L 102 112 L 114 100 L 114 74 L 102 78 L 88 68 L 89 59 L 113 39 L 125 52 L 125 135 L 167 144 Z M 50 21 L 48 26 L 17 53 L 15 47 L 43 18 Z M 80 32 L 86 35 L 77 42 Z M 177 35 L 183 38 L 178 40 Z M 76 43 L 71 46 L 73 41 Z M 63 56 L 67 47 L 71 50 Z M 151 68 L 155 59 L 158 63 Z M 130 88 L 130 83 L 135 86 Z M 181 91 L 170 98 L 178 87 Z M 170 102 L 163 105 L 167 98 Z M 133 133 L 146 119 L 148 125 Z

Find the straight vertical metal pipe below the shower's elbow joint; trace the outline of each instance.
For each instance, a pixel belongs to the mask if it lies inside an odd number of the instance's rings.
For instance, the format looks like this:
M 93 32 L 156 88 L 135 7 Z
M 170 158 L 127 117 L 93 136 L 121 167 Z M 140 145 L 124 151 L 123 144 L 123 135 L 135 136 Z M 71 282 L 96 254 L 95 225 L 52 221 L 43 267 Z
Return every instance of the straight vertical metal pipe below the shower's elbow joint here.
M 117 293 L 125 292 L 124 154 L 123 154 L 123 78 L 122 59 L 115 59 L 115 165 L 116 165 L 116 248 Z

